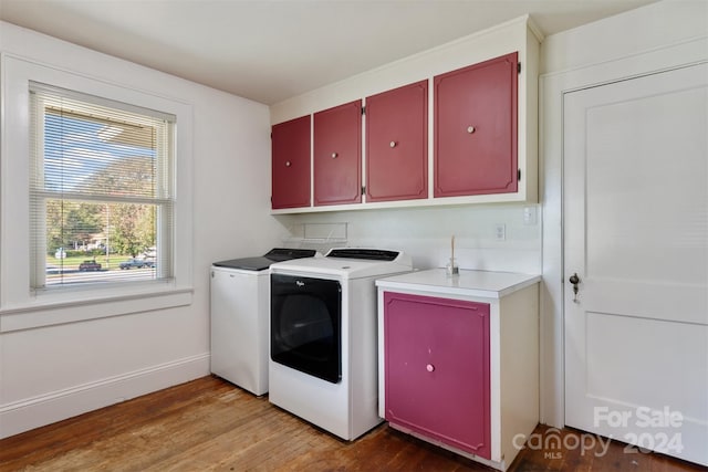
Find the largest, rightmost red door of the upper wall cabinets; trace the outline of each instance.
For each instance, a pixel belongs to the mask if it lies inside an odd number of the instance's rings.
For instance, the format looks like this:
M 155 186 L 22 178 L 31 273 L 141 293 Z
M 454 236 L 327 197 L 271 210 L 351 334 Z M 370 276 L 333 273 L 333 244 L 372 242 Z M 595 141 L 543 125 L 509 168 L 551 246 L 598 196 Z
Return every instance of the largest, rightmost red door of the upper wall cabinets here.
M 434 196 L 516 192 L 518 54 L 438 75 Z

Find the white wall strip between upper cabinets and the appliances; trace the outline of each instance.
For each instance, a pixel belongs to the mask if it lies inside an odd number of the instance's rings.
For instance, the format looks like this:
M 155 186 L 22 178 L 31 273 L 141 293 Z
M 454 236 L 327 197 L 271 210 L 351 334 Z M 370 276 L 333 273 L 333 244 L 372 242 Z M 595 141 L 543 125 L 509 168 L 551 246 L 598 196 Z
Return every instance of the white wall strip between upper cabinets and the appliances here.
M 540 273 L 541 224 L 524 224 L 523 209 L 540 211 L 535 203 L 466 204 L 363 211 L 337 211 L 277 217 L 293 238 L 285 243 L 309 245 L 303 224 L 346 223 L 346 242 L 341 245 L 406 251 L 416 269 L 444 268 L 455 235 L 455 259 L 461 269 Z M 537 214 L 537 221 L 540 217 Z M 506 239 L 496 239 L 496 227 L 503 224 Z M 326 231 L 326 230 L 325 230 Z M 317 244 L 310 243 L 315 249 Z M 323 244 L 337 245 L 336 242 Z

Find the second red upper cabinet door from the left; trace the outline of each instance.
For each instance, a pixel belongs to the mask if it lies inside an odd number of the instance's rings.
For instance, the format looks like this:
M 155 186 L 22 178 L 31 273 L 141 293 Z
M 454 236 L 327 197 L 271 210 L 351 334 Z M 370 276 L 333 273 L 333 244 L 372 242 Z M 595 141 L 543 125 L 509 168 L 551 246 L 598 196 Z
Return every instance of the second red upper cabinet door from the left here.
M 314 114 L 314 204 L 362 201 L 362 102 Z

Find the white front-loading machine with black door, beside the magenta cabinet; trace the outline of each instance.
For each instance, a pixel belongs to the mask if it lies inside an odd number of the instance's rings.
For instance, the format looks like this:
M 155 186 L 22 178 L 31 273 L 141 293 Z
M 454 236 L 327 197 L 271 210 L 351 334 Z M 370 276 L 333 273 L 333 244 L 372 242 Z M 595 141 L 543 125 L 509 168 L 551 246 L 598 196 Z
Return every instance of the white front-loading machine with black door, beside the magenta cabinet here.
M 345 440 L 381 423 L 375 280 L 412 270 L 351 248 L 271 265 L 270 401 Z

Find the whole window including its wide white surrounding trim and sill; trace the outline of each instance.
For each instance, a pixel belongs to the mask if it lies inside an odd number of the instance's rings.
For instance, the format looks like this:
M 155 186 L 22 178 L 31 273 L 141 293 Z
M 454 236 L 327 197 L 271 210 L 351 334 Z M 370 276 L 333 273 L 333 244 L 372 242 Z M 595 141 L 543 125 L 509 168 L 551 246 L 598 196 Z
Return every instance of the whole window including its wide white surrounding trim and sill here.
M 191 304 L 194 107 L 167 95 L 184 91 L 139 67 L 119 83 L 123 63 L 0 69 L 0 333 Z

